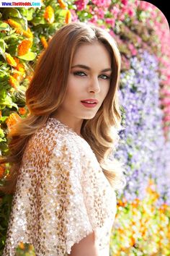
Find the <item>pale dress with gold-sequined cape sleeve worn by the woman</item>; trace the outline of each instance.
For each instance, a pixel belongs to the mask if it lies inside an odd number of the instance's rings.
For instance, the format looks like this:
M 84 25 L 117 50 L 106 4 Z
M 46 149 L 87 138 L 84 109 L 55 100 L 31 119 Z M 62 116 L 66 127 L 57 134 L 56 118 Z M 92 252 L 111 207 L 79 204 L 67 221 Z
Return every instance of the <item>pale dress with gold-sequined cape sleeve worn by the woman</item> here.
M 115 191 L 89 144 L 49 118 L 24 151 L 3 256 L 14 256 L 19 242 L 32 244 L 36 256 L 69 255 L 92 231 L 99 256 L 109 256 L 116 210 Z

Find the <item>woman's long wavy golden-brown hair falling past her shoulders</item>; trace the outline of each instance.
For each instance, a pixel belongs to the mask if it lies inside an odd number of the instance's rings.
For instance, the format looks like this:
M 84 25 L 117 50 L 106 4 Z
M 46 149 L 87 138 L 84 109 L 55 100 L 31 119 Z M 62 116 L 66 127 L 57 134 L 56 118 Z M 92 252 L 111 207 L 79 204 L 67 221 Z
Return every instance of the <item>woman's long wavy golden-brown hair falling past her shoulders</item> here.
M 117 43 L 106 30 L 83 22 L 71 22 L 59 29 L 48 48 L 37 61 L 34 75 L 26 91 L 26 104 L 30 114 L 21 119 L 9 132 L 9 154 L 0 163 L 9 163 L 10 175 L 0 187 L 5 193 L 14 193 L 22 156 L 30 137 L 55 114 L 66 95 L 68 74 L 76 48 L 82 43 L 102 43 L 112 60 L 109 92 L 93 119 L 84 120 L 81 135 L 89 143 L 104 175 L 115 189 L 124 178 L 120 161 L 109 158 L 120 139 L 121 114 L 117 90 L 120 80 L 120 52 Z

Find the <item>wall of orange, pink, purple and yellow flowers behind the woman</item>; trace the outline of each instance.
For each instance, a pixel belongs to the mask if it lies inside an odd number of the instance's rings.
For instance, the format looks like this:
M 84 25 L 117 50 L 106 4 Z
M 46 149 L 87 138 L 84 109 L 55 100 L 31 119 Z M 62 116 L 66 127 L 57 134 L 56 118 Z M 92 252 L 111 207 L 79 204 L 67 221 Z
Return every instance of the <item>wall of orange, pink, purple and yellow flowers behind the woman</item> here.
M 0 8 L 0 153 L 28 114 L 24 93 L 37 59 L 59 27 L 91 22 L 117 40 L 122 55 L 122 130 L 114 153 L 127 185 L 117 193 L 110 255 L 170 255 L 169 25 L 153 4 L 138 0 L 44 0 L 40 8 Z M 0 166 L 0 184 L 9 171 Z M 0 195 L 0 255 L 12 195 Z M 19 244 L 16 255 L 35 255 Z

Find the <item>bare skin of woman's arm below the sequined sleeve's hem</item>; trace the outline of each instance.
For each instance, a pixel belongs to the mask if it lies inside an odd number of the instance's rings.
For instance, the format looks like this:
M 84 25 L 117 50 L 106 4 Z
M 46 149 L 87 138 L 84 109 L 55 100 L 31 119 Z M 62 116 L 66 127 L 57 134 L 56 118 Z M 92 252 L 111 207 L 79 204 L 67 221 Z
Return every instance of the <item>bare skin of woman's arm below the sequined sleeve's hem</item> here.
M 99 256 L 95 244 L 94 232 L 84 237 L 79 244 L 73 244 L 73 247 L 71 247 L 71 254 L 68 256 Z

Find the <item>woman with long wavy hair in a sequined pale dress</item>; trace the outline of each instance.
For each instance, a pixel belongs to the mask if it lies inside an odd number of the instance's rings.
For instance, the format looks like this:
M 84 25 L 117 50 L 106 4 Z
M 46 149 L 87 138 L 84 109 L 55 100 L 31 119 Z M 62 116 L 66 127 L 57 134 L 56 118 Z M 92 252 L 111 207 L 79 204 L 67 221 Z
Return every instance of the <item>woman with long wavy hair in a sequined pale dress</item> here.
M 120 53 L 105 30 L 72 22 L 50 40 L 26 92 L 30 114 L 9 133 L 4 256 L 19 242 L 37 256 L 109 255 L 123 178 L 108 158 L 121 127 L 119 77 Z

